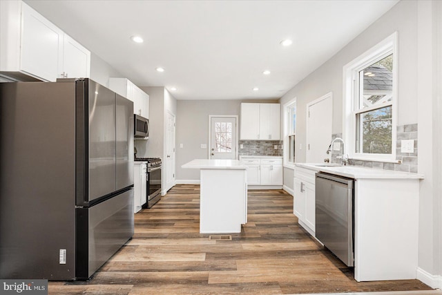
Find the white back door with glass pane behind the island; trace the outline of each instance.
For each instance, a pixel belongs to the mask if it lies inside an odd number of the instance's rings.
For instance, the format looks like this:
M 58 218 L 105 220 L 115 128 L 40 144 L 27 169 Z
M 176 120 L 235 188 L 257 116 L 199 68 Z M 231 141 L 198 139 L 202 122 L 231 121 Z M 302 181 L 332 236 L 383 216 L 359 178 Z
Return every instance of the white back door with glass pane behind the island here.
M 210 118 L 211 159 L 236 159 L 236 117 Z

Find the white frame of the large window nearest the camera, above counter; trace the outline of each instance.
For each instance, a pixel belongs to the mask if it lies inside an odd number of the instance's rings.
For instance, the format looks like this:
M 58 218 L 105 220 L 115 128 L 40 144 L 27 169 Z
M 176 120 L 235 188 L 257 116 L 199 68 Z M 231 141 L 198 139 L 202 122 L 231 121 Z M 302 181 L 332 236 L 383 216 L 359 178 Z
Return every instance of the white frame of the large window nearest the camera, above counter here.
M 398 85 L 398 33 L 394 32 L 389 37 L 383 39 L 365 53 L 356 57 L 343 67 L 343 140 L 345 150 L 348 151 L 350 159 L 366 160 L 375 162 L 394 162 L 396 160 L 396 129 L 397 129 L 397 85 Z M 359 104 L 359 72 L 381 59 L 393 55 L 393 81 L 392 81 L 392 101 L 391 103 L 378 105 L 369 108 L 358 108 Z M 364 113 L 370 109 L 392 106 L 392 153 L 356 153 L 356 115 Z

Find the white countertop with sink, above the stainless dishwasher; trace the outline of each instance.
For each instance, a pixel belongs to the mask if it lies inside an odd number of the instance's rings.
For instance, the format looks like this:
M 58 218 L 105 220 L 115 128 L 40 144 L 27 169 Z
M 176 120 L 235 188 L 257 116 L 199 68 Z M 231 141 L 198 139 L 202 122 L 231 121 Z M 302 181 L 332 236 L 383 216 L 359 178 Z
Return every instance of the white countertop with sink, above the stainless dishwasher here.
M 327 165 L 327 166 L 321 166 Z M 322 171 L 341 175 L 347 178 L 372 178 L 372 179 L 423 179 L 423 175 L 417 173 L 408 173 L 401 171 L 391 171 L 382 169 L 372 169 L 361 166 L 336 166 L 327 163 L 295 163 L 295 166 L 310 169 L 313 171 Z

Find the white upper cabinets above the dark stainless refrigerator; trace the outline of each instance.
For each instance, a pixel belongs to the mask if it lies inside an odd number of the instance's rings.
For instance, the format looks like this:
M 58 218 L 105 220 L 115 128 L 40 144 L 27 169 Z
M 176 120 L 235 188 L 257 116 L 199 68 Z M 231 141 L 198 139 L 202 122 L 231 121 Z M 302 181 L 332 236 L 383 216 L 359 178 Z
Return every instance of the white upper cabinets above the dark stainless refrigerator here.
M 26 3 L 0 1 L 0 72 L 22 81 L 89 77 L 90 52 Z

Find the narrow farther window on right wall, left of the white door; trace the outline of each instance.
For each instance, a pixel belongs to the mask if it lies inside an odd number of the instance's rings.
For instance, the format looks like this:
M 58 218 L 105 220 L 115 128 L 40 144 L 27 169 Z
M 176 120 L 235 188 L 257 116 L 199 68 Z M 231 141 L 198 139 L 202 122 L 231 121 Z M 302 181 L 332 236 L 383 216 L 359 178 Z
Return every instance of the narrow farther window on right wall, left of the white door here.
M 284 105 L 284 111 L 284 162 L 287 166 L 293 166 L 296 149 L 296 98 Z

